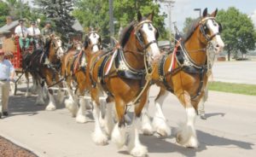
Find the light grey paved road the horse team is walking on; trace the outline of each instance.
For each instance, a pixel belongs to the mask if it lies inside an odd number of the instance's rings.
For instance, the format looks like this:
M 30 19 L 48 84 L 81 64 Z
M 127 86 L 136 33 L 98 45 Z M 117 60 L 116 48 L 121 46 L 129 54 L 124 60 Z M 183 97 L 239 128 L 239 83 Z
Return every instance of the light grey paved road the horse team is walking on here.
M 156 88 L 150 91 L 150 113 L 154 110 Z M 34 104 L 35 96 L 12 96 L 10 116 L 0 119 L 0 135 L 45 157 L 120 157 L 129 156 L 125 148 L 118 150 L 112 142 L 96 146 L 90 135 L 94 128 L 91 111 L 86 124 L 77 124 L 66 108 L 54 112 Z M 247 156 L 256 154 L 256 96 L 209 92 L 207 120 L 196 119 L 199 148 L 183 148 L 175 142 L 177 124 L 186 118 L 183 107 L 170 95 L 164 113 L 172 135 L 165 139 L 141 135 L 150 157 L 177 156 Z M 1 146 L 0 146 L 1 147 Z M 1 152 L 0 152 L 1 154 Z M 1 156 L 1 155 L 0 155 Z

